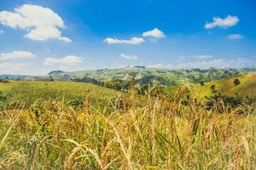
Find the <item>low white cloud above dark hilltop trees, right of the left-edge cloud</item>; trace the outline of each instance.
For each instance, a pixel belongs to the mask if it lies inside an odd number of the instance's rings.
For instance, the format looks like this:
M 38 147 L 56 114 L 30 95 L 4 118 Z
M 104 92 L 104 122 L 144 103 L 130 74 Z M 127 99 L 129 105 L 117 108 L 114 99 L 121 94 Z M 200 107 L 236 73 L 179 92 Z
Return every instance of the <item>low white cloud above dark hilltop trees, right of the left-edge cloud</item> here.
M 44 65 L 77 65 L 82 62 L 82 59 L 75 55 L 67 55 L 63 58 L 46 58 Z

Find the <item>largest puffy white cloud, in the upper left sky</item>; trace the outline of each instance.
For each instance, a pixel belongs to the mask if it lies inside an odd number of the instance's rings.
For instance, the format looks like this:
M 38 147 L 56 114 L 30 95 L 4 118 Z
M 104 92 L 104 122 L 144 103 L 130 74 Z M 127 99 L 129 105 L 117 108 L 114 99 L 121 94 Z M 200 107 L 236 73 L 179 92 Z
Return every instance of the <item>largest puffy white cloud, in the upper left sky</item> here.
M 62 37 L 59 28 L 64 28 L 64 22 L 50 8 L 38 5 L 24 4 L 15 8 L 14 12 L 0 11 L 0 23 L 11 28 L 27 31 L 25 37 L 34 41 L 58 39 L 72 42 L 68 37 Z

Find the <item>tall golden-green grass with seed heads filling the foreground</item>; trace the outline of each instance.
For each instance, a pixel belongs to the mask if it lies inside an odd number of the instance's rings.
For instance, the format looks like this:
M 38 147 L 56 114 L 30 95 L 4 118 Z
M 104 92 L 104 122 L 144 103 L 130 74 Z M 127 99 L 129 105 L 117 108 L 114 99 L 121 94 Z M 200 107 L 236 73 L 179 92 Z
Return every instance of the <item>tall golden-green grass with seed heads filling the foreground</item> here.
M 182 105 L 188 91 L 169 100 L 149 88 L 139 106 L 132 91 L 100 109 L 88 94 L 79 109 L 49 99 L 3 111 L 0 169 L 255 169 L 255 111 L 209 110 L 197 94 Z

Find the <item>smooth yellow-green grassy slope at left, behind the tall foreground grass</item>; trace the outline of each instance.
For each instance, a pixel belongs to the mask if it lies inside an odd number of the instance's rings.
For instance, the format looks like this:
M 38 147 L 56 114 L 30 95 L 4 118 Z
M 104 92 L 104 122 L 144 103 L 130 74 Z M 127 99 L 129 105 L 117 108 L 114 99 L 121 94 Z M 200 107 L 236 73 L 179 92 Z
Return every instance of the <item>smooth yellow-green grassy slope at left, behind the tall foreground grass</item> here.
M 85 97 L 88 94 L 94 94 L 94 102 L 102 103 L 108 102 L 108 99 L 119 92 L 83 82 L 15 82 L 9 90 L 7 101 L 32 105 L 35 102 L 42 103 L 44 100 L 53 99 L 67 103 L 77 95 Z

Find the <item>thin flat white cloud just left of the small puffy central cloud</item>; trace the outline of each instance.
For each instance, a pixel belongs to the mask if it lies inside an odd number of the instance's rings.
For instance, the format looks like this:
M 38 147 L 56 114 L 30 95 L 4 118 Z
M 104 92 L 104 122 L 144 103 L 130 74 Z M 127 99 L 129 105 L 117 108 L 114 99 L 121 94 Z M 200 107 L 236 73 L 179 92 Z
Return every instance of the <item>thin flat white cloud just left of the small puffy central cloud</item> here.
M 125 43 L 125 44 L 131 44 L 131 45 L 139 45 L 145 42 L 145 40 L 142 37 L 132 37 L 130 40 L 107 37 L 106 39 L 104 39 L 104 42 L 107 42 L 108 44 Z

